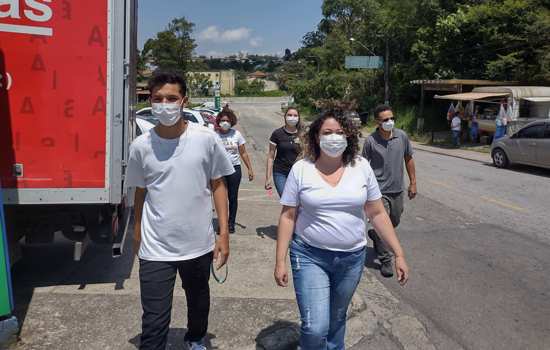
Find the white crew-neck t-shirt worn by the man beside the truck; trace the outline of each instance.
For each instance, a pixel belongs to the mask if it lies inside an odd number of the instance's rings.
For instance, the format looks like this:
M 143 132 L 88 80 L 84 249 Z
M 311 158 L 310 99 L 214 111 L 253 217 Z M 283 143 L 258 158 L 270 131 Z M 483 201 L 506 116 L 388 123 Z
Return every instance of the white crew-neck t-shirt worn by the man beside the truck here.
M 130 146 L 126 184 L 147 189 L 139 257 L 189 260 L 214 249 L 210 180 L 234 172 L 216 133 L 188 123 L 176 139 L 154 129 Z

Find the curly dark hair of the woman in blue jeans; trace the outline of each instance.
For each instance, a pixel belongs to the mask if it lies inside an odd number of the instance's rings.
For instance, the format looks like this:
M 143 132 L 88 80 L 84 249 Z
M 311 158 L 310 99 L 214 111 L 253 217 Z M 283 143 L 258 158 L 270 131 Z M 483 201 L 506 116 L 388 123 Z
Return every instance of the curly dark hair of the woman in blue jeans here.
M 359 155 L 359 136 L 361 135 L 359 129 L 353 125 L 351 119 L 344 117 L 342 114 L 335 111 L 327 111 L 319 116 L 309 126 L 307 132 L 304 135 L 304 158 L 315 162 L 321 156 L 321 146 L 319 146 L 319 132 L 323 123 L 327 119 L 334 119 L 342 126 L 346 139 L 348 140 L 348 147 L 342 154 L 342 161 L 344 165 L 355 165 L 355 159 Z

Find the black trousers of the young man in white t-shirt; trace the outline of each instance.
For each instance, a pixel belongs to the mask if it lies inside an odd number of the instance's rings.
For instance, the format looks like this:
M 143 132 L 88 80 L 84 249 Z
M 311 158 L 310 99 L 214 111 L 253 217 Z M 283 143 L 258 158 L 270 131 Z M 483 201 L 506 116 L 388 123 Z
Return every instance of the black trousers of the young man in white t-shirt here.
M 206 336 L 210 311 L 210 252 L 184 261 L 139 261 L 141 305 L 143 307 L 141 350 L 164 350 L 172 313 L 176 273 L 183 281 L 187 299 L 185 340 L 199 341 Z

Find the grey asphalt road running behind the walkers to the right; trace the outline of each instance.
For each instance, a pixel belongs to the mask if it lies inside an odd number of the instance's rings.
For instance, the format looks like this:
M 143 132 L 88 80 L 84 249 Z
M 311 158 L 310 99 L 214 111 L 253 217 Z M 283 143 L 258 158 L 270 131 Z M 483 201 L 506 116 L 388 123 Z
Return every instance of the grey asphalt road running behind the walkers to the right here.
M 282 125 L 279 106 L 234 107 L 265 151 Z M 550 171 L 421 151 L 415 159 L 420 195 L 398 228 L 413 274 L 406 288 L 382 282 L 428 332 L 463 348 L 550 348 Z

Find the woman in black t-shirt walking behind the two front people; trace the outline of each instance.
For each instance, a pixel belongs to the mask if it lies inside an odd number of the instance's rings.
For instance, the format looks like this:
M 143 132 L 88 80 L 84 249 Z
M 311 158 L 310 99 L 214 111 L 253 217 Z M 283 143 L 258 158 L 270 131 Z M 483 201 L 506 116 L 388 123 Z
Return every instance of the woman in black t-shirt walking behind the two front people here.
M 272 178 L 279 197 L 285 189 L 286 178 L 300 154 L 300 113 L 294 107 L 286 110 L 285 125 L 276 129 L 269 139 L 265 189 L 271 190 Z

